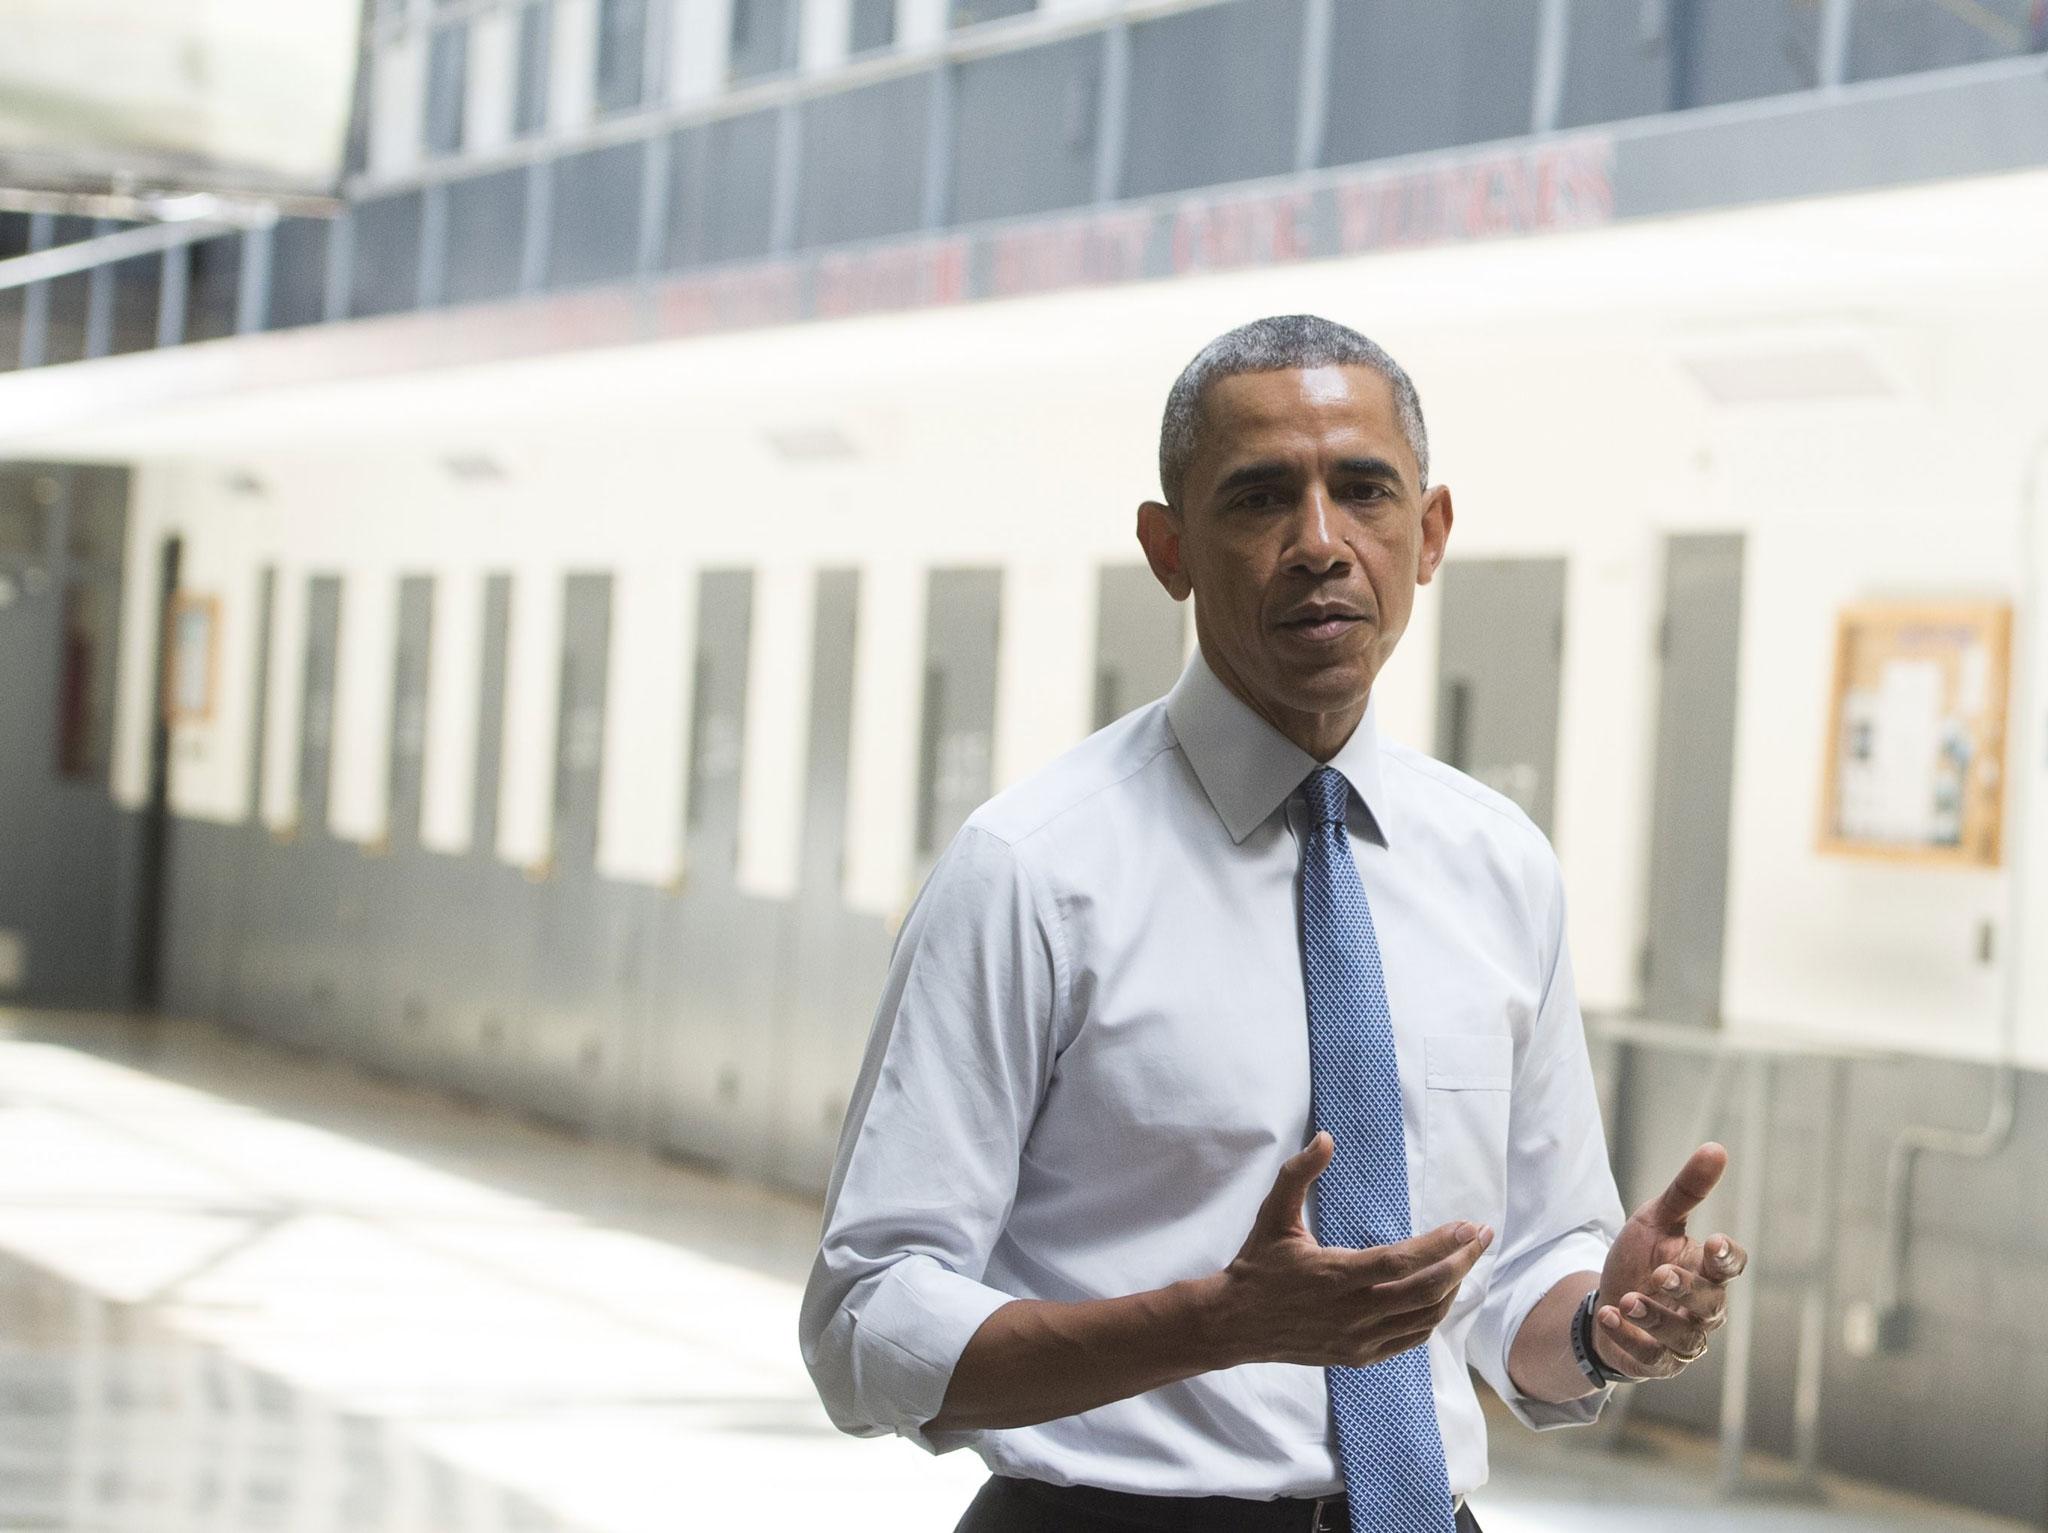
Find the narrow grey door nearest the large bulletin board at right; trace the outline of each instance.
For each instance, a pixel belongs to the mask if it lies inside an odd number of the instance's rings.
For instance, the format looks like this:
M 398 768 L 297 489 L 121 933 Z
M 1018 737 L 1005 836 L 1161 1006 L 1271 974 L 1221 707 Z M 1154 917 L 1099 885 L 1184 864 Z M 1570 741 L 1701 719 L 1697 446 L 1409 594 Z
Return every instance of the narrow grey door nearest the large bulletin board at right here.
M 1642 1009 L 1659 1021 L 1720 1019 L 1741 622 L 1743 536 L 1669 538 L 1642 948 Z

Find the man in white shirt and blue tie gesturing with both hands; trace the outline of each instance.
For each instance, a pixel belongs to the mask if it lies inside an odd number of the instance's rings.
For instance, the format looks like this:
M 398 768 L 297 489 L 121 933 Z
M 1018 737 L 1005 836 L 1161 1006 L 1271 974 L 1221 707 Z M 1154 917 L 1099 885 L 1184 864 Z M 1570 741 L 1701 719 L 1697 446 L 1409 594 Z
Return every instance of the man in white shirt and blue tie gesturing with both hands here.
M 1427 467 L 1364 336 L 1210 342 L 1137 526 L 1198 653 L 903 923 L 801 1339 L 844 1431 L 981 1453 L 967 1533 L 1475 1529 L 1468 1363 L 1587 1422 L 1722 1320 L 1726 1152 L 1622 1222 L 1548 843 L 1376 735 Z

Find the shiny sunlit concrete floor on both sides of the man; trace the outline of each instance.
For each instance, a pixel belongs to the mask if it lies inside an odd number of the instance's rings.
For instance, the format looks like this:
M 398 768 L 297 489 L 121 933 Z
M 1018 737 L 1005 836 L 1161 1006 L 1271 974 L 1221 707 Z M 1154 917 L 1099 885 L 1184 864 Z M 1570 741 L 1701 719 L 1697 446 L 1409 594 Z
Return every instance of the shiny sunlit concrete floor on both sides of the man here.
M 950 1529 L 825 1422 L 815 1206 L 199 1023 L 0 1011 L 0 1529 Z M 1712 1443 L 1493 1433 L 1489 1533 L 2015 1529 Z M 1759 1480 L 1782 1465 L 1757 1463 Z

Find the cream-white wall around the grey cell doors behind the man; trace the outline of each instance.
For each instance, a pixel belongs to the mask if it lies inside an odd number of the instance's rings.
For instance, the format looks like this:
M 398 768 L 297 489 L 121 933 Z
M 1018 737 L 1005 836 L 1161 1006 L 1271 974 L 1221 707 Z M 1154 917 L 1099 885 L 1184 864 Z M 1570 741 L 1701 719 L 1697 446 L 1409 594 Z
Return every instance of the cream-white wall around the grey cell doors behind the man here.
M 246 692 L 254 634 L 238 608 L 250 604 L 254 571 L 276 563 L 264 817 L 291 819 L 303 579 L 334 569 L 348 579 L 334 825 L 377 835 L 391 594 L 401 571 L 434 569 L 428 843 L 461 845 L 475 757 L 469 694 L 481 579 L 510 569 L 512 677 L 496 853 L 543 862 L 561 579 L 571 569 L 608 569 L 616 577 L 614 706 L 600 864 L 621 878 L 670 882 L 680 872 L 694 573 L 745 563 L 762 575 L 741 878 L 760 892 L 786 892 L 801 825 L 811 581 L 821 567 L 856 565 L 844 892 L 860 909 L 897 915 L 913 892 L 926 571 L 1006 567 L 995 776 L 997 786 L 1012 782 L 1085 727 L 1094 569 L 1139 559 L 1130 516 L 1155 489 L 1159 397 L 1194 344 L 1243 313 L 1235 289 L 1219 284 L 1217 293 L 1208 309 L 1135 325 L 1128 336 L 1114 330 L 1122 321 L 1104 319 L 1108 309 L 1073 317 L 1090 301 L 1065 299 L 1065 334 L 1096 323 L 1110 336 L 1094 360 L 1036 352 L 1022 332 L 999 350 L 973 342 L 946 350 L 948 334 L 975 323 L 965 315 L 676 348 L 618 397 L 563 403 L 553 418 L 385 428 L 375 440 L 258 456 L 254 471 L 270 487 L 262 499 L 227 489 L 227 463 L 152 465 L 137 489 L 137 538 L 186 530 L 190 581 L 223 594 L 229 645 L 219 722 L 203 743 L 180 741 L 178 802 L 197 815 L 248 813 L 250 710 L 233 696 Z M 1677 530 L 1747 538 L 1731 1021 L 1982 1054 L 1997 1042 L 2007 956 L 2025 946 L 2048 952 L 2040 935 L 2048 896 L 2036 901 L 2030 944 L 2005 929 L 2011 886 L 2003 870 L 1886 868 L 1815 849 L 1837 608 L 1872 596 L 2017 592 L 2015 506 L 2034 418 L 2011 379 L 2038 356 L 2048 325 L 1968 311 L 1927 323 L 1937 344 L 1915 352 L 1911 387 L 1892 397 L 1743 407 L 1706 399 L 1677 366 L 1669 338 L 1626 315 L 1604 325 L 1575 315 L 1524 327 L 1376 327 L 1409 358 L 1430 407 L 1434 477 L 1452 485 L 1458 512 L 1452 559 L 1569 559 L 1556 845 L 1589 1009 L 1636 1001 L 1659 581 L 1663 536 Z M 877 346 L 877 338 L 891 344 Z M 805 348 L 813 358 L 840 356 L 840 370 L 788 366 Z M 772 430 L 819 422 L 854 442 L 852 458 L 793 463 L 774 452 Z M 504 463 L 502 481 L 477 487 L 444 473 L 440 456 L 473 440 Z M 1419 594 L 1378 686 L 1382 729 L 1419 745 L 1434 733 L 1436 614 L 1432 587 Z M 139 796 L 137 741 L 147 720 L 135 632 L 131 622 L 117 772 L 129 800 Z M 2023 765 L 2015 761 L 2015 788 L 2023 782 L 2040 794 L 2038 722 L 2025 722 L 2036 733 Z M 2038 882 L 2048 882 L 2042 823 L 2028 856 Z M 1989 966 L 1976 958 L 1987 921 L 1999 954 Z M 2048 993 L 2048 970 L 2038 970 L 2036 984 Z M 2038 1009 L 2023 1034 L 2028 1056 L 2048 1062 L 2048 1021 Z

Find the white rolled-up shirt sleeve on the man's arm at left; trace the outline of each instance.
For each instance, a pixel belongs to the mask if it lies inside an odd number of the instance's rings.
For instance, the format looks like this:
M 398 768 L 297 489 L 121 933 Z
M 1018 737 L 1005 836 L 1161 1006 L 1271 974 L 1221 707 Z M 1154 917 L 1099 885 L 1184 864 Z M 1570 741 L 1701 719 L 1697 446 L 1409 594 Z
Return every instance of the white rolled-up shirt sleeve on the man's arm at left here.
M 967 825 L 889 960 L 799 1318 L 840 1431 L 926 1433 L 969 1339 L 1012 1296 L 981 1281 L 1065 1011 L 1059 915 L 1001 837 Z

